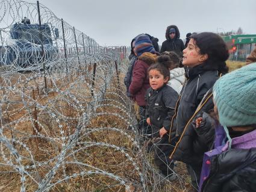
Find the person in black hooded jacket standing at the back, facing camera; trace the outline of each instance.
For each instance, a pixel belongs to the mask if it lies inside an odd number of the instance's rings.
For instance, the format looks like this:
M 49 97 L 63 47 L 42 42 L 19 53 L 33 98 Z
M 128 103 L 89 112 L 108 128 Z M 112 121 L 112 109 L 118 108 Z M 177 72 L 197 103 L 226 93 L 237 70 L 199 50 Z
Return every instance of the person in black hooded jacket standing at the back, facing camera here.
M 170 25 L 166 29 L 166 40 L 162 43 L 160 53 L 174 51 L 181 58 L 185 49 L 183 40 L 180 39 L 180 31 L 176 25 Z

